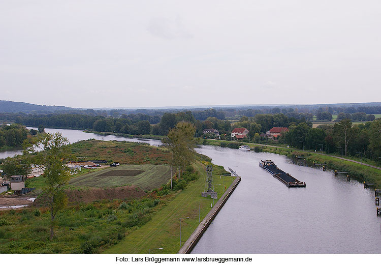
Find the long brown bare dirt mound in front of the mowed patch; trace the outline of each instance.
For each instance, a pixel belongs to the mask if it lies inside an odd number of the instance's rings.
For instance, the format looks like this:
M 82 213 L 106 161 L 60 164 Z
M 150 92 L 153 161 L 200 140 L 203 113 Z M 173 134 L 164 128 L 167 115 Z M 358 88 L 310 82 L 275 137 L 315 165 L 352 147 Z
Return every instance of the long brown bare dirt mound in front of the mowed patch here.
M 100 199 L 133 199 L 141 198 L 146 193 L 137 186 L 115 188 L 91 188 L 89 190 L 66 190 L 69 202 L 91 202 Z

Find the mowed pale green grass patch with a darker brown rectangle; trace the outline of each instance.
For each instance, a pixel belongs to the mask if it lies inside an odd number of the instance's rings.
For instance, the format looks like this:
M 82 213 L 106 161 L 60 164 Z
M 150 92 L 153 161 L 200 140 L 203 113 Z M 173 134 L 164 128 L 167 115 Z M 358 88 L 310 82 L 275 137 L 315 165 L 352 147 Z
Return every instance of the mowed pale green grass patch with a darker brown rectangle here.
M 151 190 L 166 184 L 170 177 L 171 169 L 167 165 L 120 165 L 74 177 L 69 186 L 110 188 L 136 185 L 143 190 Z

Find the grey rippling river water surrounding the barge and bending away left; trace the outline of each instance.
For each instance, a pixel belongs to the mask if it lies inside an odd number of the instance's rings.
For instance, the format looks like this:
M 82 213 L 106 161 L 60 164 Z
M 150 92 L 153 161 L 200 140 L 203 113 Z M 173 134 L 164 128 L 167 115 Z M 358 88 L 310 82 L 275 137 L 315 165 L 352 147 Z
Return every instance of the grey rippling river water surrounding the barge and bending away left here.
M 31 129 L 31 128 L 29 128 Z M 36 128 L 34 128 L 36 129 Z M 97 135 L 78 130 L 61 132 L 71 143 L 90 138 L 161 144 L 160 140 Z M 242 177 L 223 209 L 193 253 L 380 253 L 381 218 L 376 217 L 373 189 L 357 181 L 297 165 L 271 153 L 201 146 L 197 152 L 213 163 L 233 168 Z M 21 151 L 0 153 L 0 158 Z M 282 170 L 306 182 L 288 188 L 259 167 L 271 159 Z

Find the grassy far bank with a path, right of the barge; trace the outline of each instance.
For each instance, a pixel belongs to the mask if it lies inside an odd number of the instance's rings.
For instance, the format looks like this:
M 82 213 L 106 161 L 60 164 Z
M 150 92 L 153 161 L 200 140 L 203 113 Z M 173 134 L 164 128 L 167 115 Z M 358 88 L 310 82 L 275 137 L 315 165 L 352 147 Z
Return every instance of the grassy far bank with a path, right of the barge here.
M 205 140 L 205 139 L 204 139 Z M 300 151 L 296 149 L 287 149 L 284 147 L 273 146 L 273 145 L 263 145 L 263 144 L 253 144 L 253 143 L 240 143 L 232 142 L 226 140 L 209 140 L 207 139 L 204 144 L 216 145 L 216 146 L 227 146 L 229 143 L 234 143 L 234 146 L 247 144 L 250 146 L 251 150 L 255 152 L 268 152 L 275 153 L 279 155 L 285 155 L 296 159 L 297 157 L 306 158 L 307 164 L 310 166 L 315 163 L 325 163 L 327 167 L 332 170 L 338 170 L 342 172 L 348 172 L 352 179 L 356 179 L 359 182 L 373 182 L 376 188 L 381 187 L 381 168 L 373 165 L 365 165 L 364 163 L 357 162 L 351 159 L 339 158 L 332 155 L 320 154 L 314 152 Z M 231 145 L 232 146 L 232 145 Z

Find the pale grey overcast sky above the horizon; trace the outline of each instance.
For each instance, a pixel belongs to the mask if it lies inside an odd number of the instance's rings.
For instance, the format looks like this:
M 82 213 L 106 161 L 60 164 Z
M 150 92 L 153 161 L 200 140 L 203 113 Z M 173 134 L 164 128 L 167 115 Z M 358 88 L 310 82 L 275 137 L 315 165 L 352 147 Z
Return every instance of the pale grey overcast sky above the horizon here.
M 381 102 L 381 2 L 0 1 L 0 100 Z

